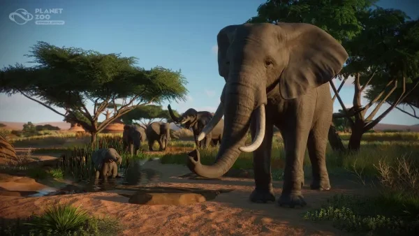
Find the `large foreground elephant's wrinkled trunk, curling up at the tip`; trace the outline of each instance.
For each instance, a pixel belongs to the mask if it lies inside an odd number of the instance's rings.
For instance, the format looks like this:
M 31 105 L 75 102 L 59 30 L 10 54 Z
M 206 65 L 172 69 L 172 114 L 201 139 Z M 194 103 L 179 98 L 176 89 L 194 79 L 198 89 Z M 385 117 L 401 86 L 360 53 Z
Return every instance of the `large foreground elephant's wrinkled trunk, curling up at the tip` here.
M 240 155 L 240 148 L 244 146 L 253 111 L 257 110 L 259 113 L 256 116 L 258 124 L 265 126 L 265 87 L 263 84 L 254 84 L 251 80 L 244 80 L 245 78 L 242 76 L 238 78 L 242 80 L 229 79 L 221 95 L 220 105 L 225 107 L 222 109 L 224 111 L 224 128 L 223 139 L 215 163 L 202 165 L 198 150 L 189 153 L 189 169 L 202 177 L 221 177 L 230 170 Z M 260 92 L 260 88 L 263 88 L 263 92 Z M 263 115 L 260 115 L 261 113 Z M 260 120 L 261 118 L 263 120 Z M 261 128 L 261 125 L 258 127 Z M 258 133 L 260 135 L 260 131 Z

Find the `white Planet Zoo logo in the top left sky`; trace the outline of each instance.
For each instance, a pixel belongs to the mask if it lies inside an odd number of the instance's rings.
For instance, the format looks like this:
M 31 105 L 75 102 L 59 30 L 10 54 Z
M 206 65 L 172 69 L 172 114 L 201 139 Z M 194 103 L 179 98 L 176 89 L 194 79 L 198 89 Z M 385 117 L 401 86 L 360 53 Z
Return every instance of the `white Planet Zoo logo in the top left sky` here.
M 50 20 L 51 15 L 61 14 L 63 8 L 50 8 L 50 9 L 35 9 L 35 24 L 64 24 L 64 20 Z M 29 13 L 23 8 L 15 10 L 15 12 L 9 14 L 9 19 L 16 24 L 26 24 L 27 22 L 34 19 L 34 15 Z

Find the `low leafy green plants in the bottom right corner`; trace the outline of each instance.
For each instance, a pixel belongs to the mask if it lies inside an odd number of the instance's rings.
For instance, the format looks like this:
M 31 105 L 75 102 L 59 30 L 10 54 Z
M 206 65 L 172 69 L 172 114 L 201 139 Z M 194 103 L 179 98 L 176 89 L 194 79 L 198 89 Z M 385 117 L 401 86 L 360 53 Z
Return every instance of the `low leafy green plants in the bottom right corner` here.
M 418 214 L 406 215 L 406 207 L 419 209 L 419 205 L 406 205 L 403 198 L 394 196 L 360 197 L 337 196 L 320 209 L 311 210 L 304 219 L 332 221 L 335 228 L 351 233 L 369 235 L 416 235 L 419 232 Z M 389 205 L 391 204 L 391 205 Z

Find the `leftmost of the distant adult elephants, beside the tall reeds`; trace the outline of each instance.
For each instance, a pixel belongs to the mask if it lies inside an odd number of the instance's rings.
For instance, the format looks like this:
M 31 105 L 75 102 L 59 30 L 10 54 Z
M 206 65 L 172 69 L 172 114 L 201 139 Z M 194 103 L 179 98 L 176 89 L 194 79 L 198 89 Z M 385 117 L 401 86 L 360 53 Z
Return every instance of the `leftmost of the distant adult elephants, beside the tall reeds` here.
M 145 128 L 134 124 L 126 124 L 124 133 L 122 133 L 122 141 L 124 142 L 124 150 L 130 152 L 131 155 L 138 154 L 141 142 L 145 142 L 147 135 Z

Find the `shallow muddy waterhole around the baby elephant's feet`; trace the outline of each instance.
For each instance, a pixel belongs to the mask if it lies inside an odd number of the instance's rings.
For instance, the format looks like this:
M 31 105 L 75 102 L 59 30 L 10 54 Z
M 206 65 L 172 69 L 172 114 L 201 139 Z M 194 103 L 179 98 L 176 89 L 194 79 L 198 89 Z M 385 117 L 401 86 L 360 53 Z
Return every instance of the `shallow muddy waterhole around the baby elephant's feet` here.
M 119 168 L 118 177 L 115 179 L 87 179 L 81 182 L 73 182 L 71 179 L 64 179 L 61 184 L 48 186 L 38 190 L 29 197 L 54 196 L 71 193 L 87 193 L 96 191 L 108 191 L 117 189 L 119 186 L 142 186 L 149 182 L 159 181 L 160 172 L 142 168 L 147 160 L 140 160 L 130 163 L 127 168 Z

